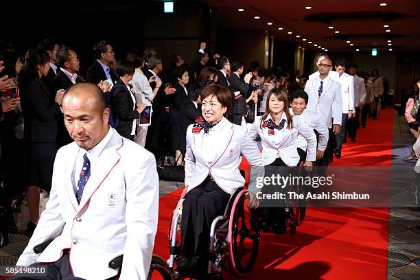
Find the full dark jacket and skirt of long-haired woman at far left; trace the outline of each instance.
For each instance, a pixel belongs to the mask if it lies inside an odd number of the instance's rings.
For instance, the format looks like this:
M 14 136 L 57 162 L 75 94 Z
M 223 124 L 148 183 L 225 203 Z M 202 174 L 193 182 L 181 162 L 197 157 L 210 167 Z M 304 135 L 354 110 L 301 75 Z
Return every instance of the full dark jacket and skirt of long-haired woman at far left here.
M 21 83 L 20 95 L 28 156 L 27 183 L 49 190 L 56 156 L 56 116 L 61 114 L 60 106 L 51 102 L 47 86 L 38 79 Z

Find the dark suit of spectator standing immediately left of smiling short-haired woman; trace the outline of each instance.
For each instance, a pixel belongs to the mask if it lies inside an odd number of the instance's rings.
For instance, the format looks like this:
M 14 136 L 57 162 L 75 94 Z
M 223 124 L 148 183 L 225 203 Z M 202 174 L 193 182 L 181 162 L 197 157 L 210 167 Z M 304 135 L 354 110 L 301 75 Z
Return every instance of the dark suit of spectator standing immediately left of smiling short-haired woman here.
M 185 137 L 181 131 L 180 127 L 180 110 L 183 108 L 183 102 L 187 100 L 187 93 L 185 92 L 183 86 L 179 82 L 175 84 L 176 92 L 170 95 L 170 113 L 169 113 L 169 124 L 171 131 L 171 143 L 172 150 L 181 150 L 181 145 L 185 141 L 182 141 L 182 138 Z

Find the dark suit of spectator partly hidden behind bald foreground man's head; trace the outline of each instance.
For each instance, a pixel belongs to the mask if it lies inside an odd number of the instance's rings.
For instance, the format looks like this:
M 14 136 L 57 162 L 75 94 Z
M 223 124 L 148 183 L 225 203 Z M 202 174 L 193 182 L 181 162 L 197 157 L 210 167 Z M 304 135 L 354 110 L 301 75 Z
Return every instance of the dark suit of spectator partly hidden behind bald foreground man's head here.
M 76 78 L 76 82 L 82 82 L 82 79 L 78 77 Z M 56 93 L 60 89 L 64 89 L 64 90 L 69 89 L 69 87 L 72 84 L 73 82 L 71 82 L 70 78 L 67 77 L 67 75 L 63 71 L 58 70 L 56 77 L 52 80 L 52 89 L 53 89 L 53 92 Z M 57 144 L 57 150 L 58 150 L 62 146 L 73 142 L 73 139 L 71 139 L 69 132 L 67 131 L 67 128 L 64 122 L 64 115 L 62 113 L 57 115 L 56 121 L 57 121 L 57 130 L 58 130 L 56 144 Z

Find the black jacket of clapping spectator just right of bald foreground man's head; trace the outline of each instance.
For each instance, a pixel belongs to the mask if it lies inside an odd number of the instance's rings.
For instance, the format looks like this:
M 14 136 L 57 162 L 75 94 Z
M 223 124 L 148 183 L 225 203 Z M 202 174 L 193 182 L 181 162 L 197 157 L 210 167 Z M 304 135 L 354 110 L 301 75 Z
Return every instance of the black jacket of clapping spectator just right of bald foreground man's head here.
M 130 137 L 132 121 L 139 119 L 140 114 L 132 109 L 135 104 L 132 102 L 130 91 L 121 79 L 118 79 L 113 87 L 110 104 L 113 107 L 114 119 L 118 120 L 115 129 L 122 137 Z

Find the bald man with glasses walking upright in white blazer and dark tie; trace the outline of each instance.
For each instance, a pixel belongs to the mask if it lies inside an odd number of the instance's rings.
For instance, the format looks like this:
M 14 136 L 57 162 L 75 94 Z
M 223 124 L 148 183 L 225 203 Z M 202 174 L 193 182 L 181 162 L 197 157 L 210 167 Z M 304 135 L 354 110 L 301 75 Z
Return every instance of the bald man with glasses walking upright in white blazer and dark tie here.
M 329 128 L 327 148 L 325 149 L 323 158 L 317 161 L 318 166 L 328 166 L 332 137 L 340 133 L 342 117 L 341 86 L 329 77 L 328 73 L 331 69 L 332 62 L 329 58 L 321 60 L 318 64 L 318 77 L 308 80 L 305 85 L 305 92 L 309 97 L 307 110 L 316 112 L 323 117 L 325 126 Z M 320 174 L 325 174 L 327 171 L 326 168 L 319 168 L 318 170 Z

